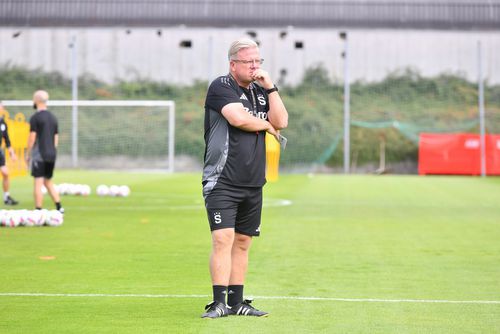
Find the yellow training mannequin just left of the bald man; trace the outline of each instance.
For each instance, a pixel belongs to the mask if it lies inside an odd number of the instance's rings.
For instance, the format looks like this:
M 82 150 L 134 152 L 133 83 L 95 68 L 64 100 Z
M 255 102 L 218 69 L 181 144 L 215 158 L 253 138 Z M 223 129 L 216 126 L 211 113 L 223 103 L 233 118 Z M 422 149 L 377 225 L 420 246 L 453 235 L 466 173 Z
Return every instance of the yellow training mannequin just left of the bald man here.
M 2 149 L 5 151 L 5 163 L 9 169 L 9 176 L 24 176 L 28 174 L 28 166 L 25 160 L 26 149 L 28 148 L 28 136 L 30 125 L 22 113 L 17 113 L 14 119 L 10 118 L 7 110 L 0 107 L 0 117 L 3 117 L 9 131 L 9 138 L 12 148 L 17 155 L 17 160 L 12 161 L 10 153 L 5 149 L 5 141 L 2 142 Z

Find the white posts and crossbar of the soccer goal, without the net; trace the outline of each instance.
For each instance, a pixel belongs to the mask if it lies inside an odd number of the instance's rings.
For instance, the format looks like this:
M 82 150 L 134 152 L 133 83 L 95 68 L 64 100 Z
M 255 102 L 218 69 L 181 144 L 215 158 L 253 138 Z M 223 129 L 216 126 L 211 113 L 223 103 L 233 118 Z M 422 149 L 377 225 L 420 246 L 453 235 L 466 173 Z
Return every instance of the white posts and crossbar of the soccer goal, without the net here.
M 32 107 L 30 100 L 4 100 L 5 107 Z M 78 107 L 166 107 L 168 108 L 168 172 L 174 172 L 175 102 L 171 100 L 49 100 L 47 106 L 72 107 L 71 158 L 78 167 Z

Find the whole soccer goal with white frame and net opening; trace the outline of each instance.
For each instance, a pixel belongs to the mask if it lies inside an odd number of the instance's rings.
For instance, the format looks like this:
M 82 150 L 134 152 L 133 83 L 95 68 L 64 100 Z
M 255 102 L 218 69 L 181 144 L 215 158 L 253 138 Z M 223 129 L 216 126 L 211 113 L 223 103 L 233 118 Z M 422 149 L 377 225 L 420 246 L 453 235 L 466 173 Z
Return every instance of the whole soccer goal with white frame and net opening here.
M 27 122 L 32 101 L 2 101 Z M 59 121 L 57 166 L 174 171 L 174 101 L 49 100 Z M 10 130 L 9 130 L 10 131 Z

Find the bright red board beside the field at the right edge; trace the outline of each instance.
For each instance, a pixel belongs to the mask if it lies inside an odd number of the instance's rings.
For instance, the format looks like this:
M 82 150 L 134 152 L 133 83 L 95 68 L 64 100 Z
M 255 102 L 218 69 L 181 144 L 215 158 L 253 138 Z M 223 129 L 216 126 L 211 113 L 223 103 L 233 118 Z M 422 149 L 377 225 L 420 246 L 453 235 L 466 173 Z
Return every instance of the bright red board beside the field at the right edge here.
M 486 174 L 500 175 L 500 135 L 486 135 Z M 418 173 L 481 174 L 480 136 L 471 133 L 421 133 Z

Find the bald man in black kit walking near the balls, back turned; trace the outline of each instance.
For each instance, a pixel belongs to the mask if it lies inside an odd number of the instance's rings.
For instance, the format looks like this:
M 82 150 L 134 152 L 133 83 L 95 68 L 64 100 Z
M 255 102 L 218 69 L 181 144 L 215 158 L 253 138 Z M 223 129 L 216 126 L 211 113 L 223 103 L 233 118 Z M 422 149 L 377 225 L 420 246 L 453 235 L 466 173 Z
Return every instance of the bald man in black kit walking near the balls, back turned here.
M 31 175 L 35 178 L 33 193 L 36 209 L 40 210 L 42 208 L 42 185 L 44 185 L 54 201 L 56 209 L 64 213 L 59 193 L 52 183 L 59 130 L 56 117 L 47 110 L 48 100 L 49 94 L 46 91 L 38 90 L 33 94 L 33 108 L 36 109 L 36 112 L 30 118 L 26 161 L 29 165 L 31 160 Z

